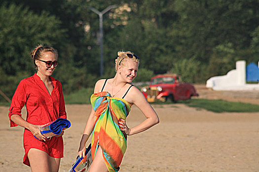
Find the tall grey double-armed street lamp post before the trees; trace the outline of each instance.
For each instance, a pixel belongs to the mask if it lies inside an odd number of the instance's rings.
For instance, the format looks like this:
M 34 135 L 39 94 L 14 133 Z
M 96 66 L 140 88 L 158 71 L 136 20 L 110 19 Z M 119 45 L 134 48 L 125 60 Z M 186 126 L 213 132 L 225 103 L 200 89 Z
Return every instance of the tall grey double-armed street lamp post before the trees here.
M 95 12 L 96 14 L 99 15 L 99 27 L 100 27 L 100 56 L 101 56 L 101 60 L 100 60 L 100 76 L 103 75 L 103 66 L 104 66 L 104 60 L 103 60 L 103 15 L 105 13 L 107 13 L 109 10 L 111 10 L 112 8 L 116 8 L 117 5 L 110 5 L 107 8 L 105 8 L 102 12 L 98 11 L 97 9 L 93 8 L 93 7 L 89 7 L 90 10 L 92 10 L 93 12 Z

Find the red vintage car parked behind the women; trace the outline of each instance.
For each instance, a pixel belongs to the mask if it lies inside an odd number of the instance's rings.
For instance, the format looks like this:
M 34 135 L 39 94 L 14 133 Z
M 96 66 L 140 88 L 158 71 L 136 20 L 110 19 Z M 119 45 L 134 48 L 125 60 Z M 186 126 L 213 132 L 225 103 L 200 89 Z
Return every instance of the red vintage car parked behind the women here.
M 187 100 L 198 96 L 193 85 L 181 81 L 176 74 L 157 75 L 151 78 L 149 86 L 141 89 L 148 102 Z

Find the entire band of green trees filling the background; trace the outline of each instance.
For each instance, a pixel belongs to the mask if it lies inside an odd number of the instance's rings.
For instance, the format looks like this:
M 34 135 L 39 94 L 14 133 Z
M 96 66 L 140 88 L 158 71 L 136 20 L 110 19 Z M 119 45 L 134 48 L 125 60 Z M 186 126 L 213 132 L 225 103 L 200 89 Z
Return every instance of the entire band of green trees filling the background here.
M 99 16 L 103 11 L 104 75 L 100 76 Z M 138 77 L 166 72 L 205 83 L 234 68 L 235 60 L 258 62 L 258 0 L 1 0 L 0 89 L 11 97 L 35 71 L 29 56 L 39 43 L 59 51 L 54 77 L 66 94 L 114 76 L 118 51 L 140 57 Z M 15 80 L 15 82 L 12 82 Z

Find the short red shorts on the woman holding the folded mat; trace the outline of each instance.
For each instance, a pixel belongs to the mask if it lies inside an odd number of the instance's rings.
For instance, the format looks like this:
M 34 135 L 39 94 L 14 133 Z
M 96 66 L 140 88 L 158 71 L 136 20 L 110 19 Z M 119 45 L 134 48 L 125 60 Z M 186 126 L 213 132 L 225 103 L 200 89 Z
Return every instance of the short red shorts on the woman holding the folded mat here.
M 23 147 L 25 150 L 23 163 L 27 166 L 30 166 L 28 152 L 31 148 L 42 150 L 53 158 L 63 158 L 64 156 L 64 144 L 62 137 L 52 137 L 50 138 L 50 140 L 47 140 L 45 142 L 39 141 L 34 137 L 32 132 L 27 129 L 24 130 Z

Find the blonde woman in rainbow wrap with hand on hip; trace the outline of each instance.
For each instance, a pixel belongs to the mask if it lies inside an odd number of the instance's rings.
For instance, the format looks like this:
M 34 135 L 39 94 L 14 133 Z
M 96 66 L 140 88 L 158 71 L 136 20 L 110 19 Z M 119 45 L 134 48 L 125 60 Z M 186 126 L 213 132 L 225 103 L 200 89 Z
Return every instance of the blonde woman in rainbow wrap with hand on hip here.
M 131 83 L 136 78 L 139 57 L 132 52 L 118 52 L 116 74 L 97 81 L 91 96 L 92 112 L 81 138 L 78 155 L 84 156 L 85 143 L 92 134 L 93 162 L 90 172 L 117 172 L 127 147 L 127 136 L 147 130 L 159 118 L 141 91 Z M 129 128 L 126 117 L 136 105 L 146 120 Z

